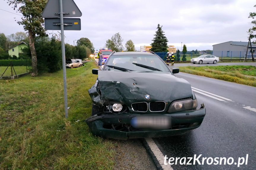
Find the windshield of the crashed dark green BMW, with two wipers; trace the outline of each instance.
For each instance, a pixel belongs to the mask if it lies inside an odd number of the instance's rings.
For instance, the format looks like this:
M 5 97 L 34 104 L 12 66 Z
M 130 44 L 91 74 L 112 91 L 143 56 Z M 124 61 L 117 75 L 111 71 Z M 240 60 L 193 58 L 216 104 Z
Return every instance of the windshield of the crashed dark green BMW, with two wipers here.
M 109 66 L 109 67 L 108 67 Z M 115 69 L 116 66 L 123 69 L 134 71 L 163 71 L 171 72 L 165 62 L 156 55 L 116 55 L 110 56 L 107 60 L 104 70 L 120 71 Z

